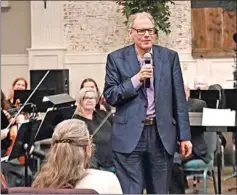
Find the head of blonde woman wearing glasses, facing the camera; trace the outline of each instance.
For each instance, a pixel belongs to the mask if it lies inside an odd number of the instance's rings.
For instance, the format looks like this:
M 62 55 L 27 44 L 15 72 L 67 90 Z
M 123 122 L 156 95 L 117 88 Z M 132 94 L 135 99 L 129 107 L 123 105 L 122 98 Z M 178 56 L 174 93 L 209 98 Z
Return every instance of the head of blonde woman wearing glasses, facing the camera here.
M 83 115 L 85 110 L 94 110 L 97 104 L 98 93 L 92 88 L 82 88 L 76 97 L 76 114 Z

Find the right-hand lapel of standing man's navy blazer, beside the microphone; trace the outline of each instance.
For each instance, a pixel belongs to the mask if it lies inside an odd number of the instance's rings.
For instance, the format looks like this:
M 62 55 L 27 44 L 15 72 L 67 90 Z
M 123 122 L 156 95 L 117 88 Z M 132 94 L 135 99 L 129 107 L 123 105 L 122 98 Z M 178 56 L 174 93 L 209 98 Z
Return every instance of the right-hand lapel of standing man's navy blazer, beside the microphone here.
M 154 66 L 154 89 L 155 89 L 155 101 L 157 101 L 160 92 L 160 81 L 161 81 L 161 72 L 162 72 L 162 65 L 163 59 L 160 53 L 159 47 L 152 47 L 153 53 L 153 66 Z

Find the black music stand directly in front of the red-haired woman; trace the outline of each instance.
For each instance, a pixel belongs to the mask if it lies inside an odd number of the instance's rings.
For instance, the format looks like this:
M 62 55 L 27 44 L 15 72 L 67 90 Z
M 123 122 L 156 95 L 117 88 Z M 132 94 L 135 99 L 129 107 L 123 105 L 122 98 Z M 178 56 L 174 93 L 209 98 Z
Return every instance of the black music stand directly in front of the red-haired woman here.
M 32 91 L 33 90 L 15 90 L 13 103 L 19 99 L 21 104 L 24 104 Z M 55 94 L 55 90 L 37 90 L 30 98 L 29 104 L 35 104 L 38 112 L 45 112 L 50 105 L 48 102 L 43 102 L 43 99 L 45 96 L 53 94 Z M 25 108 L 23 108 L 23 111 L 31 112 L 32 108 L 29 105 L 26 105 Z

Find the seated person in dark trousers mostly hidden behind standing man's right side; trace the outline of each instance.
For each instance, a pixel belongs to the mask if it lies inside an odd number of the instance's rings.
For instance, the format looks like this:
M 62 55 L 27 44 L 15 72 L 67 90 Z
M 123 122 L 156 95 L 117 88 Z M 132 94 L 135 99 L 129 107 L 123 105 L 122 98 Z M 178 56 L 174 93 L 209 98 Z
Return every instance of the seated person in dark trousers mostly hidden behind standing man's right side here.
M 206 102 L 199 99 L 189 98 L 190 89 L 185 85 L 185 94 L 187 97 L 188 111 L 189 112 L 202 112 L 203 108 L 206 107 Z M 172 169 L 172 177 L 170 183 L 170 194 L 184 194 L 185 193 L 185 182 L 186 177 L 182 165 L 189 160 L 202 159 L 208 163 L 211 158 L 208 156 L 207 144 L 204 139 L 204 129 L 199 127 L 191 128 L 191 142 L 193 144 L 192 154 L 187 158 L 184 158 L 178 152 L 174 155 L 174 166 Z

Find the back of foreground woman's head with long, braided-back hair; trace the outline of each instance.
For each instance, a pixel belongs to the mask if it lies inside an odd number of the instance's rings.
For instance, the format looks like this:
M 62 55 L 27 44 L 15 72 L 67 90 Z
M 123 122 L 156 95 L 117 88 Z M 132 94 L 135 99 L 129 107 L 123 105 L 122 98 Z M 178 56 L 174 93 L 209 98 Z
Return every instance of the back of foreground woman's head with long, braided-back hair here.
M 36 188 L 74 188 L 87 174 L 92 144 L 86 124 L 78 119 L 59 123 L 52 146 L 32 186 Z

